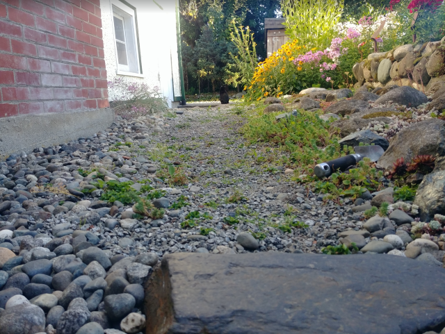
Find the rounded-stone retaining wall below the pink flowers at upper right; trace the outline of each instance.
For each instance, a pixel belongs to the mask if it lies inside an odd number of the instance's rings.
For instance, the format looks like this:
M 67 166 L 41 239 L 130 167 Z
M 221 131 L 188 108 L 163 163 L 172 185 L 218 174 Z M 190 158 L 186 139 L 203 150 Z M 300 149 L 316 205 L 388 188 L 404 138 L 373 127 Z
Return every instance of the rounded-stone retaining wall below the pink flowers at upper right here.
M 406 44 L 388 52 L 371 53 L 357 62 L 353 74 L 356 88 L 389 85 L 411 86 L 428 92 L 437 82 L 445 81 L 445 37 L 425 44 Z

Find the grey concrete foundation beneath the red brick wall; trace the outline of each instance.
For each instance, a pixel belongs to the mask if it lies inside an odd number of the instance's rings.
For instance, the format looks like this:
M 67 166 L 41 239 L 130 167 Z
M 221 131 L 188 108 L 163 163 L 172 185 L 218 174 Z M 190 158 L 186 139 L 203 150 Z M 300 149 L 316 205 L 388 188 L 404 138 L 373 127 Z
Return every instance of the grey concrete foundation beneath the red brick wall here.
M 0 160 L 12 153 L 90 137 L 113 120 L 111 108 L 0 118 Z

